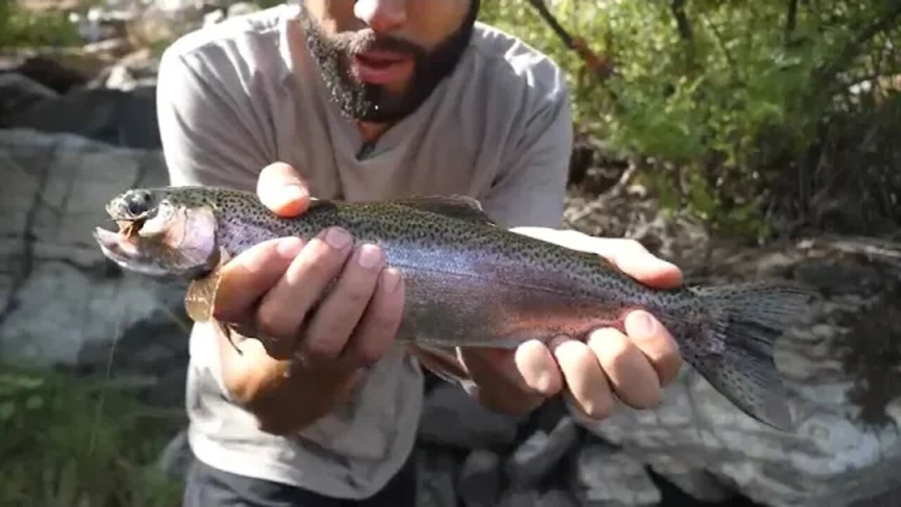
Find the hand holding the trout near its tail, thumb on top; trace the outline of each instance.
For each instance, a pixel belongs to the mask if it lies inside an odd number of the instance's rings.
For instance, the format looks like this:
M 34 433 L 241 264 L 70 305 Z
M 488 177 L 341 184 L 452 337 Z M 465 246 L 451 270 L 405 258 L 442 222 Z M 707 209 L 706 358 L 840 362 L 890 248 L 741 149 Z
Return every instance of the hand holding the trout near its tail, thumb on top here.
M 514 232 L 597 253 L 651 286 L 669 288 L 682 283 L 676 266 L 632 240 L 543 227 L 521 227 Z M 631 312 L 625 330 L 626 334 L 614 328 L 597 329 L 587 343 L 560 336 L 547 346 L 536 340 L 514 351 L 461 349 L 460 358 L 475 383 L 471 393 L 488 407 L 523 413 L 565 386 L 578 410 L 590 418 L 605 419 L 614 410 L 614 395 L 636 409 L 657 405 L 661 387 L 676 378 L 682 363 L 676 342 L 651 314 Z

